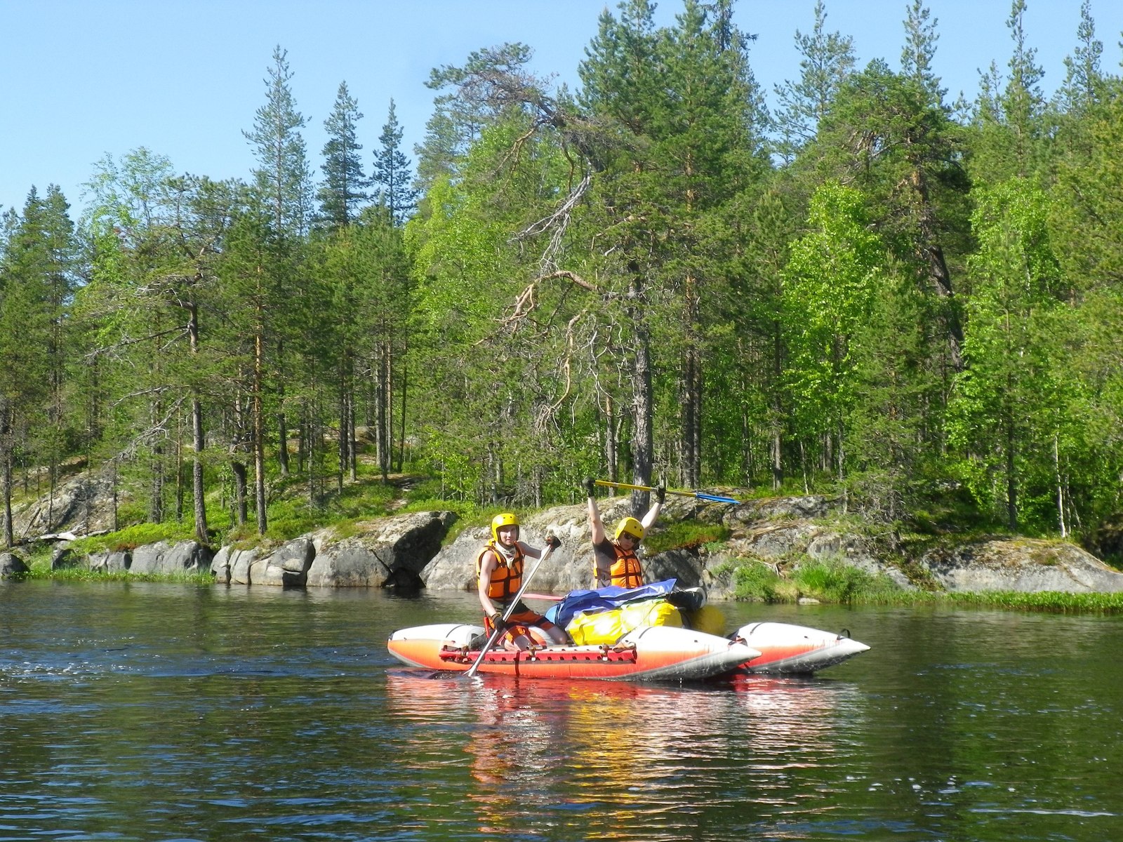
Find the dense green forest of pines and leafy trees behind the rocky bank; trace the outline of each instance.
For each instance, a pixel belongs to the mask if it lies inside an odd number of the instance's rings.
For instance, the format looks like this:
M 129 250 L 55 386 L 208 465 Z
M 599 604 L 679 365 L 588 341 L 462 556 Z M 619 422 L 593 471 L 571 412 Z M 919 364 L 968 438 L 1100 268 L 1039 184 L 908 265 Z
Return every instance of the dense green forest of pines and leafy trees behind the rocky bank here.
M 575 90 L 520 44 L 433 70 L 412 157 L 346 83 L 308 149 L 277 47 L 244 181 L 137 148 L 3 216 L 3 541 L 74 464 L 134 520 L 266 534 L 359 440 L 478 504 L 663 476 L 1087 534 L 1123 489 L 1123 77 L 1085 2 L 1046 98 L 1025 9 L 950 102 L 922 0 L 864 67 L 820 2 L 767 109 L 732 0 L 626 0 Z

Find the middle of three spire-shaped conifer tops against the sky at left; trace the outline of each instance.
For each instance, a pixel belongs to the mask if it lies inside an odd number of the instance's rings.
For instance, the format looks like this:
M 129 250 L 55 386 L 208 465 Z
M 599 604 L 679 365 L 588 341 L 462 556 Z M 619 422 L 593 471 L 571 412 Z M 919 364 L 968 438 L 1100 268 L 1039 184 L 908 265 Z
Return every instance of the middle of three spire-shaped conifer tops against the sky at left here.
M 368 181 L 363 174 L 359 150 L 363 146 L 356 136 L 356 126 L 363 119 L 358 103 L 347 91 L 347 83 L 339 83 L 336 104 L 323 121 L 328 141 L 323 145 L 323 185 L 320 187 L 320 216 L 330 228 L 339 228 L 358 214 L 359 204 L 367 200 Z

